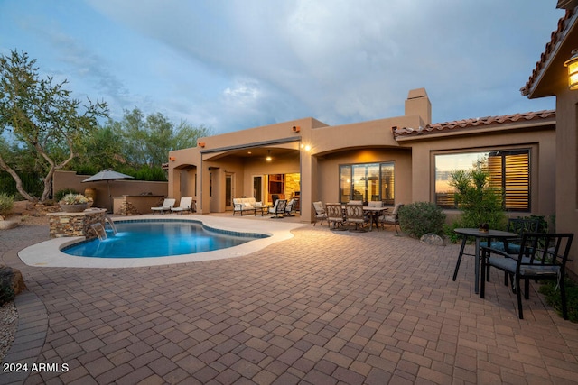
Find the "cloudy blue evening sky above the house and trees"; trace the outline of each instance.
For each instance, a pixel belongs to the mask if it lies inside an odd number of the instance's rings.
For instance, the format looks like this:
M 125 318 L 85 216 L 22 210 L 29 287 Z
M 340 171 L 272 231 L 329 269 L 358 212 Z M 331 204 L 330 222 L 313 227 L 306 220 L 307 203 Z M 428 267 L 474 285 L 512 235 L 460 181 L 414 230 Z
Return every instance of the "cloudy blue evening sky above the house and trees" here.
M 432 123 L 555 108 L 521 96 L 556 0 L 0 0 L 0 55 L 35 59 L 120 120 L 137 107 L 213 133 L 314 117 Z

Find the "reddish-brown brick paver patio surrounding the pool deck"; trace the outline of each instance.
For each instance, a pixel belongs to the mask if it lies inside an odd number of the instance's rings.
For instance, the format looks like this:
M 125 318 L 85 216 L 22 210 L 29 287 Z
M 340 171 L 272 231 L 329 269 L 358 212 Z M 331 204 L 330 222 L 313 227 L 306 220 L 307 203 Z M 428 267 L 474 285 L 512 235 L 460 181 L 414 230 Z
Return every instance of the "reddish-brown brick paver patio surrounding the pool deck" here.
M 0 233 L 4 262 L 23 271 L 48 316 L 36 362 L 68 366 L 31 372 L 27 384 L 578 380 L 578 326 L 545 307 L 535 286 L 518 320 L 515 296 L 496 271 L 480 299 L 471 258 L 453 282 L 458 245 L 310 225 L 228 260 L 112 270 L 23 265 L 15 251 L 47 233 Z

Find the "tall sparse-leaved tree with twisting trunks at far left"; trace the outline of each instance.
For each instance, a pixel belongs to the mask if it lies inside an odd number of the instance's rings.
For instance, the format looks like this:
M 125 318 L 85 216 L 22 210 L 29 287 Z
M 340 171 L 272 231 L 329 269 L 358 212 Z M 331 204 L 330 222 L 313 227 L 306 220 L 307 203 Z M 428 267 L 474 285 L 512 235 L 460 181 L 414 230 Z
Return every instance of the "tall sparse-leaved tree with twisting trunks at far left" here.
M 0 135 L 7 133 L 18 149 L 30 151 L 43 175 L 42 202 L 51 196 L 54 171 L 78 155 L 79 142 L 96 129 L 99 116 L 107 116 L 107 104 L 89 100 L 81 106 L 64 88 L 67 80 L 53 84 L 51 77 L 39 78 L 35 63 L 16 50 L 9 57 L 0 56 Z M 12 176 L 25 199 L 36 200 L 23 188 L 18 174 L 22 164 L 8 160 L 3 148 L 0 169 Z

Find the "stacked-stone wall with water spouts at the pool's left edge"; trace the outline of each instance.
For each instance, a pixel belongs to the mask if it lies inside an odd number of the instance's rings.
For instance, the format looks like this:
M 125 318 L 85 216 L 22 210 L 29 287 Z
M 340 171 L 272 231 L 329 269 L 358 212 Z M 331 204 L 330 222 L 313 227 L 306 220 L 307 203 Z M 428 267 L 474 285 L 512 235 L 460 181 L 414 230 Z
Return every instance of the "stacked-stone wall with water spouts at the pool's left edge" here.
M 105 209 L 89 209 L 81 213 L 51 213 L 48 214 L 50 237 L 85 236 L 87 239 L 97 237 L 90 225 L 105 225 Z

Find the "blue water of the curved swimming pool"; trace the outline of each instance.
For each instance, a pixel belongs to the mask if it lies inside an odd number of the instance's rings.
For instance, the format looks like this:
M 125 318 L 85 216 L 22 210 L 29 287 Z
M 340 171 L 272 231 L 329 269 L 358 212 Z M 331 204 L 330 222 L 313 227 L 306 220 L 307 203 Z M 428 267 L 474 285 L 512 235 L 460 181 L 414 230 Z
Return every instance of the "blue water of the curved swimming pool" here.
M 70 255 L 99 258 L 147 258 L 210 252 L 266 237 L 208 231 L 191 221 L 115 222 L 117 234 L 107 229 L 108 238 L 76 243 L 62 250 Z

